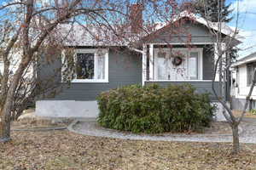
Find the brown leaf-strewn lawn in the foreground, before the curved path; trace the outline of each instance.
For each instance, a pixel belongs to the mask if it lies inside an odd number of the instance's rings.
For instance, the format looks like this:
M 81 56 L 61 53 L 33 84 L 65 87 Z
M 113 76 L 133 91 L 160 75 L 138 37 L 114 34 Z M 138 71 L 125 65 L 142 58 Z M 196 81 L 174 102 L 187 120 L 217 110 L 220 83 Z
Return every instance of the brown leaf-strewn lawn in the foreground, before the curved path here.
M 256 169 L 256 145 L 108 139 L 64 131 L 14 132 L 0 144 L 0 169 Z

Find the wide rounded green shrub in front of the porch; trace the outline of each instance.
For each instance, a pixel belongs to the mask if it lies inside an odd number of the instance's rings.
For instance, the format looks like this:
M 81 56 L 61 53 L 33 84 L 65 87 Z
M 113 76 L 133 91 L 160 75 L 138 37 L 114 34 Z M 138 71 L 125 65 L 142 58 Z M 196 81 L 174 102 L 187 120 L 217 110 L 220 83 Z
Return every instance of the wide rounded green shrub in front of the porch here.
M 195 131 L 209 126 L 215 106 L 189 84 L 161 88 L 131 85 L 97 97 L 102 127 L 133 133 Z

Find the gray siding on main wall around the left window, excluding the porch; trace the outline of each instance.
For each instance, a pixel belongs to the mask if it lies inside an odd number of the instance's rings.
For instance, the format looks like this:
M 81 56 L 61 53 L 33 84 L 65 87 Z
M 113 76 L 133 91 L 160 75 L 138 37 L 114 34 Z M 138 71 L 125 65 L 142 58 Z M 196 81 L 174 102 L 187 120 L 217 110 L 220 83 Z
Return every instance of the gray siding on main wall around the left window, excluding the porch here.
M 51 65 L 41 68 L 38 76 L 41 78 L 53 75 L 61 65 L 61 58 Z M 59 71 L 60 72 L 60 71 Z M 101 82 L 72 82 L 61 83 L 61 93 L 55 95 L 54 100 L 96 100 L 96 96 L 111 88 L 118 88 L 142 82 L 142 58 L 138 54 L 127 50 L 109 50 L 108 54 L 108 83 Z M 55 82 L 61 82 L 61 74 L 55 77 Z

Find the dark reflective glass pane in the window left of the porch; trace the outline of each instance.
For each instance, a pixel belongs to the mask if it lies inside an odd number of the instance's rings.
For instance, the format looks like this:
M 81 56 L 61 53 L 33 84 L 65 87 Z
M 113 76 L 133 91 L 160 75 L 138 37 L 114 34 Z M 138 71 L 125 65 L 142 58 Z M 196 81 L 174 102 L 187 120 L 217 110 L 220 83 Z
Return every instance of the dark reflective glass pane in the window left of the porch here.
M 94 54 L 77 54 L 77 78 L 94 79 Z

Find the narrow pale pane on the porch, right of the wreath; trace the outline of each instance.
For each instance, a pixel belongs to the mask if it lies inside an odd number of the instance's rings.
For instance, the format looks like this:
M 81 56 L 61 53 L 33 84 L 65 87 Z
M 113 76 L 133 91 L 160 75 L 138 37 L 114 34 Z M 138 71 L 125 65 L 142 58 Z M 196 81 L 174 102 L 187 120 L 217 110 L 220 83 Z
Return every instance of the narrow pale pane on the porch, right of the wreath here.
M 190 79 L 198 79 L 198 53 L 190 53 L 189 57 L 189 77 Z

